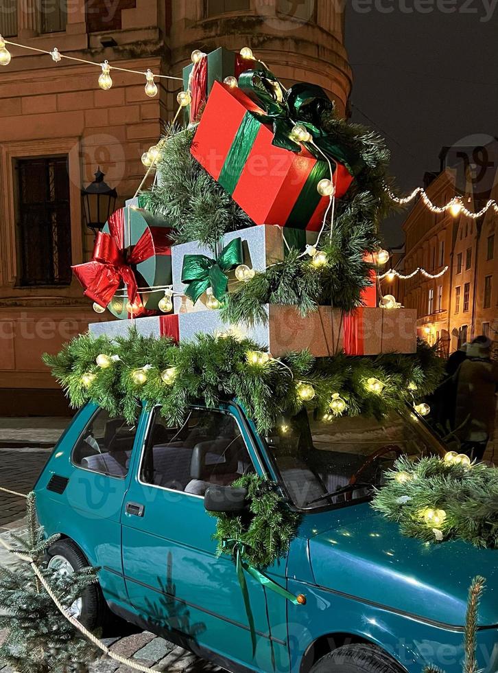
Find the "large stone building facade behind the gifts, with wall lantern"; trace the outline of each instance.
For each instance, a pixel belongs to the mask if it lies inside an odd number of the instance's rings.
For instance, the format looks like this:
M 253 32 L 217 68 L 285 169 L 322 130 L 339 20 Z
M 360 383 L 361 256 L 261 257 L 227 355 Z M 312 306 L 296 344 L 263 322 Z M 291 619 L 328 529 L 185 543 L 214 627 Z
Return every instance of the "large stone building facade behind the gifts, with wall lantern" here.
M 250 46 L 285 84 L 320 84 L 344 115 L 344 14 L 329 0 L 5 0 L 0 34 L 97 64 L 9 46 L 0 67 L 0 415 L 63 413 L 40 355 L 95 320 L 70 272 L 93 248 L 80 190 L 100 168 L 117 206 L 130 198 L 182 88 L 156 80 L 147 98 L 145 76 L 111 71 L 102 91 L 98 64 L 178 77 L 193 49 Z

